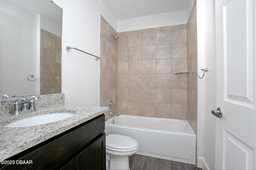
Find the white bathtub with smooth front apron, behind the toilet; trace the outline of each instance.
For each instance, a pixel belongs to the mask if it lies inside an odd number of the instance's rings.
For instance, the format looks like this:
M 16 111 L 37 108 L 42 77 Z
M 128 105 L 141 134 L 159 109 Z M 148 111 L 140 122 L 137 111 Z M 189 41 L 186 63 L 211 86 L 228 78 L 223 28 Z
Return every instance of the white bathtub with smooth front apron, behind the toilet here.
M 187 120 L 120 115 L 105 122 L 105 133 L 135 139 L 136 154 L 196 164 L 196 135 Z

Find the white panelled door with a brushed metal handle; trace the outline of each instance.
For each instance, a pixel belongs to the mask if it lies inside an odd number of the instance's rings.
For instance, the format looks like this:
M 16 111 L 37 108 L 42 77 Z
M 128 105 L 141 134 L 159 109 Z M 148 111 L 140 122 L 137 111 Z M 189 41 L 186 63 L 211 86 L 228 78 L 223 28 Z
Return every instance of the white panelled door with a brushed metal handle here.
M 216 0 L 215 169 L 256 169 L 255 0 Z M 216 108 L 217 109 L 217 108 Z

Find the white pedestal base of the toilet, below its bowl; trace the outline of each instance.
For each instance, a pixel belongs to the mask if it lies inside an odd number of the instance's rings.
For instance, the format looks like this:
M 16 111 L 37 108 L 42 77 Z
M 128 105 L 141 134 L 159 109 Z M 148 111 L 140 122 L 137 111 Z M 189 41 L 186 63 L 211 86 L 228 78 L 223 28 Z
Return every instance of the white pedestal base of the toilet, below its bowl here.
M 130 170 L 129 157 L 110 157 L 110 170 Z

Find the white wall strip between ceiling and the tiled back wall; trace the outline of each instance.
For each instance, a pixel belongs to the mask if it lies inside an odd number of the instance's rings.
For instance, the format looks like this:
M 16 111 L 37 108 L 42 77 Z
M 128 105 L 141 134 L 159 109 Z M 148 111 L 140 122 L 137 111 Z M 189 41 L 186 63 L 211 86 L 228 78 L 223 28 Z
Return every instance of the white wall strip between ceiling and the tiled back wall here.
M 187 23 L 187 20 L 188 18 L 186 10 L 167 12 L 163 14 L 118 21 L 117 32 L 180 25 Z

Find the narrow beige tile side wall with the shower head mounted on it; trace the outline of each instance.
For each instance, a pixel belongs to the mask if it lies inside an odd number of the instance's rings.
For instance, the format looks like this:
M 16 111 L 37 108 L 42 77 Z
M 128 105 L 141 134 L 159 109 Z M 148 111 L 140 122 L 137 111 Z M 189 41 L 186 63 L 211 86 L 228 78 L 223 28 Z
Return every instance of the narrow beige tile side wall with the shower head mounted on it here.
M 109 106 L 109 101 L 117 104 L 117 41 L 110 34 L 117 35 L 112 26 L 101 16 L 100 20 L 100 106 Z M 106 112 L 109 119 L 112 107 Z

